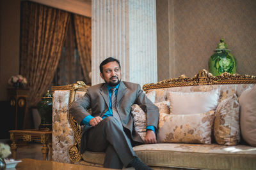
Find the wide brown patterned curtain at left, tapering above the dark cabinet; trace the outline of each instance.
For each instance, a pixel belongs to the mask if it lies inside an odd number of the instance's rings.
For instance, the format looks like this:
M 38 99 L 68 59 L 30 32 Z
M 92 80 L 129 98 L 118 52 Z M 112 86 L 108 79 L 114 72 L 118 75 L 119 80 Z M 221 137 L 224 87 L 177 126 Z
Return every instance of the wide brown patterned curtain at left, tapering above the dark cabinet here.
M 20 74 L 28 79 L 28 108 L 36 106 L 51 84 L 69 21 L 66 11 L 28 1 L 21 4 Z

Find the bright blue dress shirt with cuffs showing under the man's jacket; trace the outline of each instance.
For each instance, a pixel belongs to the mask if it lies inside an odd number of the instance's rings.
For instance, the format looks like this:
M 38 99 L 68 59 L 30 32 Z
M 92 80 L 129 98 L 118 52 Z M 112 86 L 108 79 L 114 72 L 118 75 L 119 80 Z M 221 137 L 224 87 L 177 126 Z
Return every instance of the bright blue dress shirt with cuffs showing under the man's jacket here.
M 116 85 L 116 90 L 115 90 L 115 94 L 117 94 L 117 89 L 119 88 L 120 83 L 118 83 L 118 85 Z M 112 112 L 112 103 L 111 103 L 111 95 L 112 95 L 112 90 L 113 87 L 110 87 L 109 85 L 107 85 L 108 87 L 108 94 L 109 94 L 109 107 L 108 107 L 108 111 L 106 111 L 106 113 L 103 115 L 102 119 L 106 118 L 106 117 L 113 117 L 113 112 Z M 90 120 L 94 118 L 92 115 L 88 115 L 87 117 L 85 117 L 82 120 L 82 123 L 85 125 L 89 125 Z M 146 129 L 150 129 L 152 131 L 154 131 L 156 133 L 156 130 L 154 128 L 153 125 L 148 125 Z

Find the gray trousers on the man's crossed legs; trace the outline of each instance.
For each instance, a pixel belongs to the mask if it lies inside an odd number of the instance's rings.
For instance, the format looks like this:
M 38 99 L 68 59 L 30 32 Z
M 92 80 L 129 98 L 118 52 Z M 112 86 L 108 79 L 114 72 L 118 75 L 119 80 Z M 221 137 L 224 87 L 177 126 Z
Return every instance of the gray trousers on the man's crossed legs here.
M 136 157 L 131 145 L 114 117 L 104 118 L 98 125 L 86 133 L 86 150 L 91 152 L 106 152 L 104 167 L 122 169 Z

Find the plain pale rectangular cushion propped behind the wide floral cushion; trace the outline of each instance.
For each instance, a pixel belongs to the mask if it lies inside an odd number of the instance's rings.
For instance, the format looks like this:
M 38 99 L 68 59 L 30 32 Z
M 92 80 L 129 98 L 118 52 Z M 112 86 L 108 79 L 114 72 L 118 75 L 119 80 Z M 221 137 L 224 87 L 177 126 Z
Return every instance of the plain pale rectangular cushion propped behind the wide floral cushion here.
M 205 113 L 216 110 L 219 90 L 209 92 L 168 92 L 170 112 L 173 114 Z

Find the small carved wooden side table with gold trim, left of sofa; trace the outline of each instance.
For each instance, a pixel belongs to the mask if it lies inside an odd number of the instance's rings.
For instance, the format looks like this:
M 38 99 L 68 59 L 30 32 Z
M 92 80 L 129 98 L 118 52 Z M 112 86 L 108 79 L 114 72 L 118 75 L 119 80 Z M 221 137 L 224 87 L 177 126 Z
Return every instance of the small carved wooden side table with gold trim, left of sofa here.
M 42 143 L 42 153 L 44 160 L 48 158 L 48 152 L 50 148 L 50 160 L 52 156 L 52 131 L 38 131 L 38 130 L 12 130 L 10 132 L 10 139 L 12 140 L 11 150 L 12 150 L 12 157 L 16 159 L 16 151 L 17 139 L 22 139 L 23 141 L 31 142 L 36 141 Z M 49 148 L 48 148 L 49 146 Z M 49 159 L 48 159 L 49 160 Z

